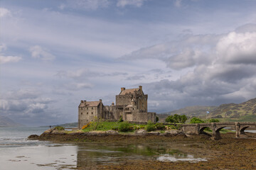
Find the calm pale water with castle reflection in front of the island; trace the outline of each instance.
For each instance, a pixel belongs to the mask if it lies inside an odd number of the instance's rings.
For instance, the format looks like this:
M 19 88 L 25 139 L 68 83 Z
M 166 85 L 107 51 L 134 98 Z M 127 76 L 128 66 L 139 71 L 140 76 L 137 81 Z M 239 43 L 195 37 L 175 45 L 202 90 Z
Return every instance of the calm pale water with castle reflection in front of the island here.
M 74 169 L 98 164 L 119 164 L 127 159 L 189 161 L 206 159 L 186 152 L 186 147 L 166 143 L 58 144 L 26 140 L 47 128 L 0 128 L 0 169 Z M 185 148 L 185 149 L 184 149 Z

